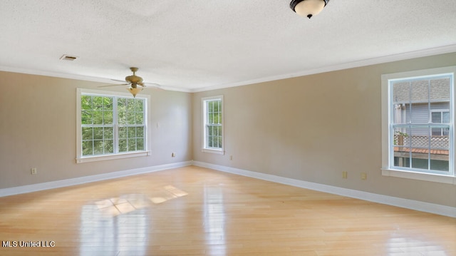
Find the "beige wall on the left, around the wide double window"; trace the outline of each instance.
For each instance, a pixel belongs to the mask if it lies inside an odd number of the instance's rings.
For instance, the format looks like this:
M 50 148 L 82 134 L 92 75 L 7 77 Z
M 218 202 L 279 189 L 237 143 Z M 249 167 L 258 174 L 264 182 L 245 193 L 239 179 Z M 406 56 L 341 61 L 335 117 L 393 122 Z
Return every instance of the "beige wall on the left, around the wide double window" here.
M 0 188 L 192 160 L 190 93 L 150 89 L 152 155 L 77 164 L 76 88 L 100 85 L 0 72 Z

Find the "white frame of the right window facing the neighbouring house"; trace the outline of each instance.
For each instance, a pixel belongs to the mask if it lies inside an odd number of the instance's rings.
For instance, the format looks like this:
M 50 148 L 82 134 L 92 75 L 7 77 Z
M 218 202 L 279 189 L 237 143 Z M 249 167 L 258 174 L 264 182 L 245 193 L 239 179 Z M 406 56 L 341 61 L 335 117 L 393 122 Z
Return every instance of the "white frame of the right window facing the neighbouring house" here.
M 381 76 L 381 116 L 382 116 L 382 175 L 383 176 L 392 176 L 398 178 L 410 178 L 415 180 L 426 180 L 437 183 L 449 183 L 456 184 L 455 176 L 455 143 L 450 141 L 449 147 L 449 171 L 448 173 L 432 173 L 432 171 L 419 171 L 413 169 L 403 169 L 394 166 L 393 156 L 391 155 L 391 131 L 392 128 L 391 121 L 393 115 L 393 109 L 391 104 L 391 91 L 390 91 L 390 81 L 400 80 L 400 79 L 416 79 L 416 78 L 430 78 L 432 76 L 444 76 L 450 75 L 450 131 L 449 136 L 452 140 L 455 140 L 455 74 L 456 66 L 448 66 L 442 68 L 430 68 L 425 70 L 418 71 L 407 71 L 400 73 L 388 73 Z M 431 113 L 430 113 L 431 115 Z M 431 118 L 431 117 L 430 117 Z

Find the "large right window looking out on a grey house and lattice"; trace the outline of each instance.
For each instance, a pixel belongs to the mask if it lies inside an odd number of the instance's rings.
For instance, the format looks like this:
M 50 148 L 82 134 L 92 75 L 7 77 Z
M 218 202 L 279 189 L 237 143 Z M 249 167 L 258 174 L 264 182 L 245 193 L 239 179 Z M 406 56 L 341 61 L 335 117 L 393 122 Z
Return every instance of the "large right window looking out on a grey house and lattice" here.
M 455 183 L 455 71 L 449 67 L 382 76 L 383 175 Z

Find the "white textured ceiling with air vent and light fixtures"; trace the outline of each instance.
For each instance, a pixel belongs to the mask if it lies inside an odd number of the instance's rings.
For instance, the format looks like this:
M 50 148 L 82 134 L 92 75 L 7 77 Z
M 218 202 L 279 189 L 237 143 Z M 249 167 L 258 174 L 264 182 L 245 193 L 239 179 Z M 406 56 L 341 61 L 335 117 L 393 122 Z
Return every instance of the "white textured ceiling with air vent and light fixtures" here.
M 179 91 L 456 51 L 455 0 L 1 0 L 0 70 Z M 62 61 L 63 54 L 78 56 Z

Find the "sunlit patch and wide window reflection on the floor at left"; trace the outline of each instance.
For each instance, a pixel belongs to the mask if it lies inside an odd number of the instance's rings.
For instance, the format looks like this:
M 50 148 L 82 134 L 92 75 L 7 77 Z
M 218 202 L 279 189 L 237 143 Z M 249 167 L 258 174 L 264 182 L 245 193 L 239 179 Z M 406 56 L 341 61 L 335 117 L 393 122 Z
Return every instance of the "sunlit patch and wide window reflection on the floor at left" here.
M 81 210 L 80 255 L 145 255 L 150 216 L 154 204 L 188 195 L 167 185 L 152 195 L 128 194 L 97 200 Z M 101 251 L 100 251 L 101 250 Z

